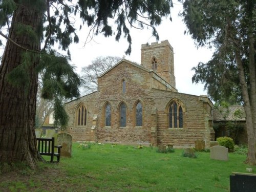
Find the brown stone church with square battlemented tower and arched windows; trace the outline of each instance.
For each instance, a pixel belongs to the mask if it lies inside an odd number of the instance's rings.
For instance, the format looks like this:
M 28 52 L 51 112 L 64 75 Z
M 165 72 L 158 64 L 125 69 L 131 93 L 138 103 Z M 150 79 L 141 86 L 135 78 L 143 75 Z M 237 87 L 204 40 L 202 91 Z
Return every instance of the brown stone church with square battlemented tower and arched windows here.
M 212 102 L 175 88 L 168 40 L 141 46 L 141 65 L 126 59 L 98 77 L 98 90 L 66 103 L 74 141 L 205 145 L 214 140 Z

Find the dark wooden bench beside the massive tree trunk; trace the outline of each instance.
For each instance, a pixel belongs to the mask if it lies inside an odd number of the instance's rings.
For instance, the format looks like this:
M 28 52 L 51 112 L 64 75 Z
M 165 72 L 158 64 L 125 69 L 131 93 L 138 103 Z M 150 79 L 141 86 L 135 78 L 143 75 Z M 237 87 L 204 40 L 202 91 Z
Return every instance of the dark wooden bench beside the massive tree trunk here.
M 52 138 L 36 138 L 37 149 L 40 155 L 51 156 L 50 162 L 53 162 L 54 156 L 57 157 L 57 162 L 60 159 L 60 148 L 61 145 L 54 145 L 54 137 Z M 54 149 L 57 148 L 57 153 L 54 152 Z

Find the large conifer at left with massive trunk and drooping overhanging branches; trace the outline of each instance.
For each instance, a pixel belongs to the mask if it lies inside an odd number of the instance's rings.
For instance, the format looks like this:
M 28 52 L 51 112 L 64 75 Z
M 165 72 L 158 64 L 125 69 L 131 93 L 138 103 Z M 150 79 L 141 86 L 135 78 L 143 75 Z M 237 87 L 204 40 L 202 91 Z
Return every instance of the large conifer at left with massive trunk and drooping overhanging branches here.
M 34 133 L 39 72 L 44 74 L 41 96 L 55 103 L 55 123 L 67 123 L 61 99 L 79 96 L 81 83 L 69 65 L 69 46 L 79 41 L 75 22 L 80 29 L 87 24 L 93 35 L 125 37 L 130 54 L 129 28 L 151 28 L 158 40 L 155 27 L 172 6 L 171 0 L 2 0 L 0 35 L 7 42 L 0 66 L 0 163 L 35 167 L 40 160 Z M 52 50 L 55 44 L 67 56 Z

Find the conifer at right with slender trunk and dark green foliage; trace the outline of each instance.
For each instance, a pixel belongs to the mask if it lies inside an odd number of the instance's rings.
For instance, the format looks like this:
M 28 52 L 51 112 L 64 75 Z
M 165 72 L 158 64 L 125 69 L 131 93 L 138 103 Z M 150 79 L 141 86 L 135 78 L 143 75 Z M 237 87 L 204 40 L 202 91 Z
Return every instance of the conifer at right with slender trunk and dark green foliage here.
M 248 1 L 185 0 L 184 22 L 198 46 L 216 49 L 207 63 L 194 68 L 215 99 L 241 102 L 246 113 L 249 164 L 256 164 L 256 4 Z

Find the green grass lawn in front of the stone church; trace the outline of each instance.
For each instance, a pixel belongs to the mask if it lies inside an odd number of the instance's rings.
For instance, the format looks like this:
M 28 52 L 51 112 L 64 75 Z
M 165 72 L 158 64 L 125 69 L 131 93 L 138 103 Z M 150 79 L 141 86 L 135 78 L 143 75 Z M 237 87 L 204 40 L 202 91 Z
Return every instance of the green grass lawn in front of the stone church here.
M 41 165 L 41 174 L 27 174 L 22 183 L 9 182 L 12 188 L 8 181 L 2 182 L 0 191 L 3 186 L 10 191 L 229 191 L 232 172 L 245 172 L 246 167 L 256 170 L 244 164 L 245 155 L 233 153 L 228 161 L 218 161 L 206 152 L 186 158 L 183 150 L 162 154 L 156 153 L 156 148 L 129 145 L 83 148 L 74 143 L 72 150 L 72 158 Z M 43 170 L 49 174 L 52 169 L 58 174 L 51 180 L 41 178 Z

